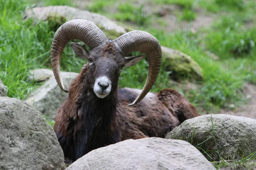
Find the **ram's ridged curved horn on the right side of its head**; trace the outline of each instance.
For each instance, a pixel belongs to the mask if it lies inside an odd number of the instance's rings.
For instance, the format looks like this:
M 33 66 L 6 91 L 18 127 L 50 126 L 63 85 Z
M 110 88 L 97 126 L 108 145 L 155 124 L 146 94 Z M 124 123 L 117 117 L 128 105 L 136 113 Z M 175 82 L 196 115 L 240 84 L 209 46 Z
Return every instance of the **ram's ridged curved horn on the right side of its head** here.
M 134 51 L 144 52 L 148 58 L 148 77 L 139 96 L 129 106 L 136 105 L 150 91 L 160 71 L 162 50 L 157 39 L 145 31 L 131 31 L 113 40 L 126 55 Z

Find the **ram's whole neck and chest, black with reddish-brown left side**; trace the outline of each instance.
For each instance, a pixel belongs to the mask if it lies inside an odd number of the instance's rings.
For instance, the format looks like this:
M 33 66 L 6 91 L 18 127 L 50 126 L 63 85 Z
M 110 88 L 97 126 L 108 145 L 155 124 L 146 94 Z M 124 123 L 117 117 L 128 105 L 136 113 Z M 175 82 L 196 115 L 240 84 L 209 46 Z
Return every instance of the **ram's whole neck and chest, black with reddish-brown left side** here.
M 74 161 L 93 149 L 121 141 L 116 121 L 117 85 L 103 99 L 84 81 L 86 67 L 73 80 L 69 96 L 56 115 L 55 131 L 64 136 L 64 148 Z M 64 144 L 62 144 L 64 146 Z M 62 146 L 62 147 L 63 147 Z

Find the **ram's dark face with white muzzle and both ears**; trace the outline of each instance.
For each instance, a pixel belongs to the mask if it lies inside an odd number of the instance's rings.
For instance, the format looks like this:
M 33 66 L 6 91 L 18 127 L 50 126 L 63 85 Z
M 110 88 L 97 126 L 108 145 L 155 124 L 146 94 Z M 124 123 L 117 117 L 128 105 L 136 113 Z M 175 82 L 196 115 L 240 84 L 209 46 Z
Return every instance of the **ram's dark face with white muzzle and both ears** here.
M 90 52 L 76 43 L 71 43 L 71 46 L 79 57 L 87 59 L 88 70 L 85 79 L 99 98 L 104 98 L 116 90 L 122 68 L 143 59 L 143 56 L 124 57 L 111 42 L 100 45 Z

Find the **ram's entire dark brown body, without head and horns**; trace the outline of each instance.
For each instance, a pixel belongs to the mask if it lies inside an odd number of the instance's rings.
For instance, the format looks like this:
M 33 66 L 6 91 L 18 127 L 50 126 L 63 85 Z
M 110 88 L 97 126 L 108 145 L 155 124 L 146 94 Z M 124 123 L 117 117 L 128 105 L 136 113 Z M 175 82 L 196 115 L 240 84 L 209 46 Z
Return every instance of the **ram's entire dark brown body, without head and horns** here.
M 138 89 L 120 88 L 99 99 L 85 88 L 87 66 L 71 83 L 70 94 L 55 117 L 54 130 L 67 163 L 99 147 L 125 139 L 165 137 L 186 119 L 199 116 L 196 109 L 175 90 L 148 93 L 134 107 Z

